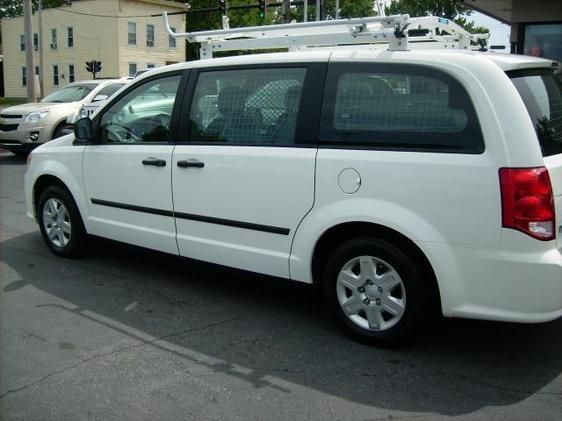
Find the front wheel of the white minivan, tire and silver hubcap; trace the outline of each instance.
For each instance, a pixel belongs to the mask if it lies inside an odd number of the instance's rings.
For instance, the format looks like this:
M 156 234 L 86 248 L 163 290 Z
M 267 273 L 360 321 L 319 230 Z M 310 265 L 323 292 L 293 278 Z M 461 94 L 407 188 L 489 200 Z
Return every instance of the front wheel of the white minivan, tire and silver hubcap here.
M 75 257 L 86 242 L 86 231 L 72 196 L 59 186 L 50 186 L 37 206 L 41 235 L 49 248 L 62 257 Z

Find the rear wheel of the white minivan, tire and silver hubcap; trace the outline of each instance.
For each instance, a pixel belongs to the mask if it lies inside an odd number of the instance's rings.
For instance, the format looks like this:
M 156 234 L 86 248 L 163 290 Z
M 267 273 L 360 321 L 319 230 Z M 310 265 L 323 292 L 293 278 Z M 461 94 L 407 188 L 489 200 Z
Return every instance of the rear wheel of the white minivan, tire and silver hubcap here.
M 355 338 L 393 344 L 423 325 L 423 270 L 395 245 L 376 238 L 343 243 L 323 274 L 328 304 Z

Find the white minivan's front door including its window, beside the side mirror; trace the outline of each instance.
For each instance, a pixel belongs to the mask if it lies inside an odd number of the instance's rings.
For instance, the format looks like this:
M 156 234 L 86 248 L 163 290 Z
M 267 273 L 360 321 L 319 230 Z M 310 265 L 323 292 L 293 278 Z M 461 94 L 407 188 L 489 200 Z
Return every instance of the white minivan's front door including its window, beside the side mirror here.
M 91 234 L 177 254 L 170 178 L 180 79 L 149 78 L 94 121 L 83 163 Z

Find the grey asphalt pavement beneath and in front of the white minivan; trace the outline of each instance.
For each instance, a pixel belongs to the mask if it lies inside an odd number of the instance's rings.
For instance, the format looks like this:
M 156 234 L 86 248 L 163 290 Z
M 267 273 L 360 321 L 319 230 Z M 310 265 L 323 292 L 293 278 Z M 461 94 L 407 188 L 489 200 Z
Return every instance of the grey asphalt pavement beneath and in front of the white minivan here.
M 54 256 L 24 172 L 0 153 L 3 420 L 562 420 L 562 320 L 366 346 L 306 285 L 100 239 Z

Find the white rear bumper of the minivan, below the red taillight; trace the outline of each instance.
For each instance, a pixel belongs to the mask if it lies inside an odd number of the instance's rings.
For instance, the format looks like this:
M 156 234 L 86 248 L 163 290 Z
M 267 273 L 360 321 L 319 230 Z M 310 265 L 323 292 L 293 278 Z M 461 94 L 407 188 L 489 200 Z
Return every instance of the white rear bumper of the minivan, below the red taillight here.
M 562 317 L 562 250 L 503 230 L 502 247 L 424 243 L 434 265 L 443 314 L 539 323 Z

